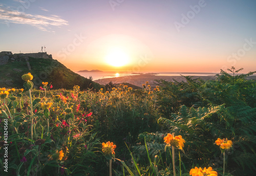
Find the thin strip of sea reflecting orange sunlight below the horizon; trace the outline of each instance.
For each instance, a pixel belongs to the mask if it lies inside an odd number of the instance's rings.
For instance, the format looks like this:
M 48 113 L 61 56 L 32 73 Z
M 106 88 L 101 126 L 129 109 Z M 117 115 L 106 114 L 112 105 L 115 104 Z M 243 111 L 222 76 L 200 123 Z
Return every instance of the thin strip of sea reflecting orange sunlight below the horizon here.
M 75 71 L 76 73 L 80 74 L 80 76 L 84 78 L 92 77 L 93 80 L 105 79 L 105 78 L 117 78 L 117 77 L 124 77 L 124 76 L 134 76 L 140 74 L 151 73 L 155 74 L 155 76 L 215 76 L 217 73 L 212 72 L 162 72 L 162 71 L 143 71 L 139 73 L 128 73 L 125 71 L 102 71 L 102 72 L 79 72 Z

